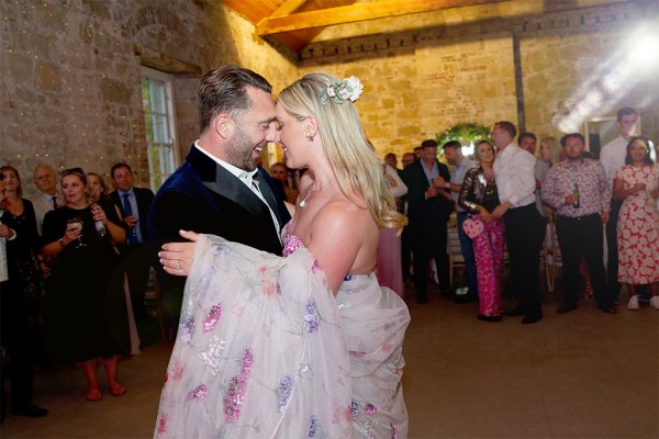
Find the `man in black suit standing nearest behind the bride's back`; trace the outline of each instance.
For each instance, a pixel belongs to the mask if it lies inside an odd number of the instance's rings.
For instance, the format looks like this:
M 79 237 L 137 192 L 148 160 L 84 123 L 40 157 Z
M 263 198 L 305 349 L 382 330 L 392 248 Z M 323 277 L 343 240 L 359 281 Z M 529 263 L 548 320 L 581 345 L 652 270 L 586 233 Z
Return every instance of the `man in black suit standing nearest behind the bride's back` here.
M 439 185 L 439 177 L 450 178 L 446 165 L 437 160 L 437 142 L 423 140 L 421 159 L 403 171 L 407 185 L 409 232 L 413 254 L 414 290 L 416 302 L 427 303 L 427 264 L 431 259 L 437 266 L 437 278 L 442 294 L 454 297 L 448 271 L 447 223 L 453 210 L 453 200 L 445 188 Z

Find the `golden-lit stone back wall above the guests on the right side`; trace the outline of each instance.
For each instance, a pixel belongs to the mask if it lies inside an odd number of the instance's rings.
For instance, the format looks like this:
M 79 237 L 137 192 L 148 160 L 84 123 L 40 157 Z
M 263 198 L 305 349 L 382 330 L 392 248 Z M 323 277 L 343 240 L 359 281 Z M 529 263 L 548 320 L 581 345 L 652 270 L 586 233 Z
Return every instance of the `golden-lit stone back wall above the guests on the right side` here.
M 424 14 L 429 26 L 423 30 L 392 31 L 396 21 L 421 15 L 381 20 L 380 29 L 365 22 L 343 30 L 359 35 L 368 25 L 380 32 L 366 37 L 336 40 L 336 31 L 328 29 L 302 50 L 300 72 L 362 80 L 357 106 L 381 155 L 411 150 L 459 122 L 510 120 L 540 137 L 583 133 L 583 122 L 614 115 L 621 106 L 636 108 L 643 134 L 659 142 L 657 68 L 610 75 L 615 67 L 619 72 L 625 59 L 621 44 L 645 25 L 644 19 L 656 22 L 659 3 L 555 11 L 540 3 Z M 501 18 L 493 20 L 493 14 Z

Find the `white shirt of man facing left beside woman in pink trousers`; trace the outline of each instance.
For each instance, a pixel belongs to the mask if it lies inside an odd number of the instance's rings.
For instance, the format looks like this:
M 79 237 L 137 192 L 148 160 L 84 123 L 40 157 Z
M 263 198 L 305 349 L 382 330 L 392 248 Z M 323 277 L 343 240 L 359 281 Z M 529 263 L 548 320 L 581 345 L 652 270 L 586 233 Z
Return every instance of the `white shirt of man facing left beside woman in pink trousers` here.
M 513 207 L 535 203 L 535 157 L 515 144 L 506 146 L 494 160 L 499 200 Z

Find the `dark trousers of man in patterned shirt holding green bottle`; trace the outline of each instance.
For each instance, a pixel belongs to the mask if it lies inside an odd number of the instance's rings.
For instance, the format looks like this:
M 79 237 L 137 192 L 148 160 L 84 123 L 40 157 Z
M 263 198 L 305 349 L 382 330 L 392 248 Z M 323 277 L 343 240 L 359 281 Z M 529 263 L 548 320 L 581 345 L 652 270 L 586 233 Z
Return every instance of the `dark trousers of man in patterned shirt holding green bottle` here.
M 558 216 L 556 219 L 556 233 L 562 258 L 563 303 L 569 306 L 577 306 L 579 301 L 581 258 L 585 260 L 597 305 L 608 307 L 613 304 L 602 262 L 604 254 L 602 228 L 602 217 L 599 213 L 578 218 Z

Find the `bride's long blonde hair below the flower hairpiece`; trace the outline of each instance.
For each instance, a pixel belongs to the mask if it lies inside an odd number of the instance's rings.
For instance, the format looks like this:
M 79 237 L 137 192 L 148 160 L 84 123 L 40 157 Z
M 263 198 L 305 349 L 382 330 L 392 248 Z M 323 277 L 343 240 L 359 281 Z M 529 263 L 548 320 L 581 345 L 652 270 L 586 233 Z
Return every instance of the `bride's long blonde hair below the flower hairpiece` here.
M 355 200 L 355 193 L 360 194 L 366 202 L 362 207 L 369 210 L 378 227 L 401 229 L 407 219 L 395 209 L 382 164 L 366 139 L 355 105 L 348 99 L 323 103 L 323 91 L 338 82 L 327 74 L 305 75 L 279 93 L 279 103 L 300 121 L 316 119 L 325 155 L 343 194 L 362 206 Z

